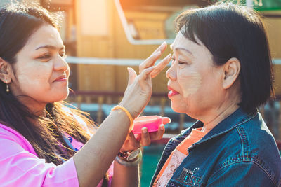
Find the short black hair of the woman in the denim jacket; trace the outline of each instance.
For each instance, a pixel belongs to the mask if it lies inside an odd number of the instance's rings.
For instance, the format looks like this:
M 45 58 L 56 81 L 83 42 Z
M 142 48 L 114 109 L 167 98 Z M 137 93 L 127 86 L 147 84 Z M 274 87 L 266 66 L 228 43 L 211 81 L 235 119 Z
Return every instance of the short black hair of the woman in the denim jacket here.
M 256 11 L 231 3 L 187 10 L 175 20 L 177 32 L 195 43 L 199 39 L 221 66 L 231 57 L 240 60 L 240 107 L 254 112 L 274 96 L 268 39 Z M 196 36 L 196 37 L 195 37 Z

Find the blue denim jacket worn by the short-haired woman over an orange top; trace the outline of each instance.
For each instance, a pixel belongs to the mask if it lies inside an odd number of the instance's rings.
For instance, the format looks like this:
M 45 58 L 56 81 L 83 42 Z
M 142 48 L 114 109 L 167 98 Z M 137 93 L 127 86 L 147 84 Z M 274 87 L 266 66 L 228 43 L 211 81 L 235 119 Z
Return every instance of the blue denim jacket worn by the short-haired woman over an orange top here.
M 193 128 L 170 139 L 150 186 L 178 144 Z M 188 148 L 167 186 L 281 186 L 281 158 L 261 114 L 237 109 Z

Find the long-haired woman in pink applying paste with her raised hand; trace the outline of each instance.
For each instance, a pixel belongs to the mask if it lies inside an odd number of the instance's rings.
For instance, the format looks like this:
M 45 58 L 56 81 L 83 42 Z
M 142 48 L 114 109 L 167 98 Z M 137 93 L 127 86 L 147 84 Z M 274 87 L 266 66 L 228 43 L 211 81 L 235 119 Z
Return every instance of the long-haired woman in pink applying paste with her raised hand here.
M 129 69 L 122 102 L 93 130 L 86 113 L 63 102 L 70 69 L 55 15 L 25 4 L 2 8 L 0 186 L 138 186 L 138 148 L 162 138 L 164 125 L 153 134 L 144 128 L 140 141 L 129 130 L 148 104 L 151 78 L 169 62 L 167 56 L 153 66 L 165 48 L 143 62 L 138 76 Z

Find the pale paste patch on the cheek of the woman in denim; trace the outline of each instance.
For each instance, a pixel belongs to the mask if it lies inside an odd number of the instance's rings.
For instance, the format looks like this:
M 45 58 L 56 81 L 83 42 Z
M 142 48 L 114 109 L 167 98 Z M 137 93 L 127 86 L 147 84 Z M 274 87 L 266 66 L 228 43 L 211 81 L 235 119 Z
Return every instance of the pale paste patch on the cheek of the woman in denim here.
M 183 92 L 183 97 L 188 97 L 188 95 L 195 94 L 197 90 L 201 87 L 202 77 L 196 71 L 184 72 L 181 71 L 178 74 L 178 84 L 181 86 Z

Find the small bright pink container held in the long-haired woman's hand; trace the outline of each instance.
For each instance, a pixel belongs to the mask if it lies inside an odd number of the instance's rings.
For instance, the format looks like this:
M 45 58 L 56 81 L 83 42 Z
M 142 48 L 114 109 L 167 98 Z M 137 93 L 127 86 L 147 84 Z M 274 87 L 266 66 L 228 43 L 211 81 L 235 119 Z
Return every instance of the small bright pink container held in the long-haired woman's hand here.
M 141 116 L 133 120 L 133 134 L 141 134 L 143 127 L 148 128 L 148 132 L 157 132 L 159 125 L 162 124 L 161 116 Z

